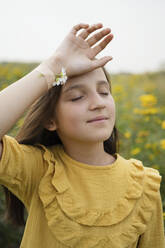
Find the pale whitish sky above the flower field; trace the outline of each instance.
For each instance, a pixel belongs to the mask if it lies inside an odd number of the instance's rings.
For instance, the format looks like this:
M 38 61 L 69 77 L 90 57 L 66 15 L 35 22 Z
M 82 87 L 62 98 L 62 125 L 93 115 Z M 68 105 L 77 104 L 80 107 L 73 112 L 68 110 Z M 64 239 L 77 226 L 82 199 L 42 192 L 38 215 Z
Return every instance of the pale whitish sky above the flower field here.
M 114 34 L 99 55 L 114 57 L 111 72 L 164 68 L 164 10 L 164 0 L 2 1 L 0 61 L 42 61 L 73 25 L 102 22 Z

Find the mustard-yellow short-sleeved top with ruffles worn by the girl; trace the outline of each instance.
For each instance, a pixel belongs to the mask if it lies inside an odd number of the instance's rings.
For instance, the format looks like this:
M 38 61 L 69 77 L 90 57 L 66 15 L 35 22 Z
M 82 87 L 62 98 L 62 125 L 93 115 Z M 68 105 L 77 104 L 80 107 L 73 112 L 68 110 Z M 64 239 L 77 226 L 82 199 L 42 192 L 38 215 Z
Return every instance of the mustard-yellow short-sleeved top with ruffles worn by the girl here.
M 115 155 L 110 165 L 88 165 L 62 145 L 5 135 L 0 184 L 28 211 L 20 247 L 164 248 L 159 172 Z

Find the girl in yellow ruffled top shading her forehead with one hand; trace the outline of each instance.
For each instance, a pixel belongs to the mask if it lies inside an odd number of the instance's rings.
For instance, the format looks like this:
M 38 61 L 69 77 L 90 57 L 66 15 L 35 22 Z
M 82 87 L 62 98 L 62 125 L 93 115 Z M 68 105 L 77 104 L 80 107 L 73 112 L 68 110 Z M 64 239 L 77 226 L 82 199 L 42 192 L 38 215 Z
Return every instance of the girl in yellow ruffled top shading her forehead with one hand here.
M 102 27 L 75 25 L 50 58 L 0 93 L 0 183 L 13 221 L 22 224 L 27 209 L 22 248 L 165 247 L 161 176 L 118 153 L 103 67 L 112 57 L 95 58 L 113 35 L 88 37 Z M 30 105 L 17 137 L 6 135 Z

